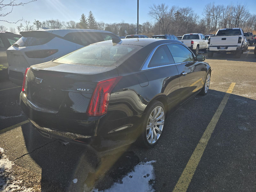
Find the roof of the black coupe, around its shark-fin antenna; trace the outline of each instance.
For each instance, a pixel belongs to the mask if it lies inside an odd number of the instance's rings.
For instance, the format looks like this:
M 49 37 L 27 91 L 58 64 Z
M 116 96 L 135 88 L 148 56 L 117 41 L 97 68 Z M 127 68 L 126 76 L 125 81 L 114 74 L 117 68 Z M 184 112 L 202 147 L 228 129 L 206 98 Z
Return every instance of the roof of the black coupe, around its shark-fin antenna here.
M 129 39 L 121 39 L 121 41 L 117 44 L 124 45 L 136 45 L 136 46 L 146 46 L 148 44 L 159 42 L 159 44 L 164 43 L 181 43 L 178 40 L 169 40 L 169 39 L 154 39 L 154 38 L 129 38 Z M 97 42 L 94 44 L 112 44 L 112 40 Z

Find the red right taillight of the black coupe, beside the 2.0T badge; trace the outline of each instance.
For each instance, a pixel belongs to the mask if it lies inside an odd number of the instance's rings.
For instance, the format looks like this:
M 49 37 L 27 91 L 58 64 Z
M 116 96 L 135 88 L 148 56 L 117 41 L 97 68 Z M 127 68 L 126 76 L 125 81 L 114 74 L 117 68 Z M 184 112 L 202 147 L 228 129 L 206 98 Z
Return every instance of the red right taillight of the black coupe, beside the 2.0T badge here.
M 101 116 L 107 113 L 110 93 L 122 76 L 102 80 L 96 84 L 86 114 L 88 116 Z

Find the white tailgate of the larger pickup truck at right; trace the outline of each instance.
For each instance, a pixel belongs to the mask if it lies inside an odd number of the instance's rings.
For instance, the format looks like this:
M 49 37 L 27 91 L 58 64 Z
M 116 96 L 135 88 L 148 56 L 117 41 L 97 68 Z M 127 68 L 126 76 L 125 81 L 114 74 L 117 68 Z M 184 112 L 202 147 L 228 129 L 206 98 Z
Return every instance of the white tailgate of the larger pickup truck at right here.
M 210 46 L 236 46 L 238 44 L 238 38 L 238 35 L 211 36 Z

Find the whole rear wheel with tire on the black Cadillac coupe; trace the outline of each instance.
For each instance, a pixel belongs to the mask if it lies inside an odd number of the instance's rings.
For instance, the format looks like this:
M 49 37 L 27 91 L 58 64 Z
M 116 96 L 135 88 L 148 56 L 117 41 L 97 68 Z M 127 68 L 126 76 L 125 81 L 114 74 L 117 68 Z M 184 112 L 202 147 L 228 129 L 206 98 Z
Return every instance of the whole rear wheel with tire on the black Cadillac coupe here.
M 157 120 L 157 118 L 159 119 Z M 144 114 L 144 120 L 136 144 L 142 148 L 153 148 L 162 135 L 165 118 L 166 111 L 164 105 L 159 101 L 152 102 Z

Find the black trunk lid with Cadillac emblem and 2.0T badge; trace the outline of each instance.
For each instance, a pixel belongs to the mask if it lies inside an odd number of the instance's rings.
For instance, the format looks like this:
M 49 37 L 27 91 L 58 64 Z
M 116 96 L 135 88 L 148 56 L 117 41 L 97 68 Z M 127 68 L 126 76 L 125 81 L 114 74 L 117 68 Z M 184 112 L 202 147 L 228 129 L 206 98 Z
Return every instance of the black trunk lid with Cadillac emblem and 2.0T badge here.
M 37 64 L 27 74 L 27 98 L 56 112 L 86 113 L 97 82 L 114 76 L 118 76 L 115 66 Z

